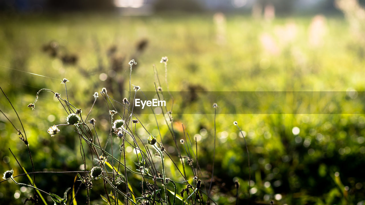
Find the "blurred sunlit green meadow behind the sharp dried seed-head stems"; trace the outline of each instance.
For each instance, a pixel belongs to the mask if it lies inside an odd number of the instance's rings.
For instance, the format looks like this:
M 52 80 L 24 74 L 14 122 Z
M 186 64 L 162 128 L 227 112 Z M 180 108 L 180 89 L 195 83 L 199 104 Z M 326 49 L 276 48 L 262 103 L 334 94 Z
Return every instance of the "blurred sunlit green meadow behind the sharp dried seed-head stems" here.
M 73 128 L 60 128 L 55 137 L 47 133 L 50 126 L 65 123 L 67 117 L 54 94 L 42 92 L 34 111 L 27 107 L 34 102 L 39 89 L 51 89 L 65 98 L 65 88 L 60 83 L 67 78 L 68 97 L 73 105 L 82 108 L 85 119 L 94 101 L 93 93 L 101 88 L 107 88 L 117 101 L 127 97 L 130 59 L 137 62 L 131 84 L 141 86 L 143 92 L 155 91 L 155 65 L 161 87 L 167 91 L 165 68 L 160 63 L 161 57 L 167 56 L 171 91 L 360 92 L 365 86 L 365 44 L 352 28 L 343 16 L 322 15 L 268 20 L 222 13 L 1 16 L 0 86 L 22 120 L 35 171 L 78 171 L 83 162 L 80 139 Z M 245 114 L 237 98 L 201 101 L 175 101 L 174 126 L 178 139 L 184 137 L 181 124 L 192 140 L 197 139 L 202 178 L 207 182 L 202 188 L 205 190 L 212 172 L 212 104 L 218 104 L 212 189 L 217 204 L 235 204 L 235 180 L 241 185 L 240 203 L 246 203 L 248 198 L 245 141 L 234 121 L 244 131 L 250 152 L 251 200 L 264 204 L 273 200 L 274 204 L 283 205 L 364 204 L 365 104 L 346 109 L 346 113 L 336 109 L 331 114 Z M 167 106 L 171 107 L 171 103 L 169 100 Z M 345 107 L 346 99 L 338 105 Z M 122 111 L 120 105 L 116 108 Z M 220 114 L 232 108 L 238 114 Z M 20 127 L 4 95 L 0 97 L 0 109 Z M 110 130 L 103 98 L 97 99 L 90 117 L 97 120 L 96 129 L 101 133 L 101 141 L 105 141 Z M 157 115 L 160 132 L 151 113 L 141 111 L 138 117 L 158 142 L 161 133 L 165 148 L 178 161 L 165 117 Z M 140 124 L 136 131 L 147 140 Z M 23 173 L 8 148 L 31 172 L 27 148 L 3 115 L 0 135 L 0 172 L 14 169 L 14 175 Z M 113 140 L 118 150 L 121 142 L 115 135 Z M 126 152 L 130 153 L 126 163 L 135 170 L 134 150 L 127 146 Z M 158 158 L 154 160 L 158 162 Z M 167 158 L 166 166 L 166 177 L 183 181 Z M 194 177 L 191 170 L 187 174 L 188 179 Z M 37 187 L 61 196 L 67 187 L 73 186 L 75 175 L 38 174 Z M 141 179 L 133 177 L 128 183 L 138 193 Z M 24 176 L 17 179 L 27 183 Z M 76 182 L 76 187 L 79 184 Z M 91 204 L 106 204 L 100 198 L 104 193 L 102 184 L 102 180 L 94 182 Z M 178 185 L 177 191 L 183 188 Z M 0 184 L 1 204 L 24 204 L 33 193 L 32 189 L 10 181 Z M 79 204 L 84 204 L 85 193 L 84 188 L 80 189 L 80 196 L 76 197 Z M 46 200 L 51 204 L 50 198 Z

